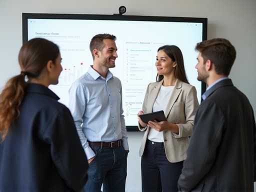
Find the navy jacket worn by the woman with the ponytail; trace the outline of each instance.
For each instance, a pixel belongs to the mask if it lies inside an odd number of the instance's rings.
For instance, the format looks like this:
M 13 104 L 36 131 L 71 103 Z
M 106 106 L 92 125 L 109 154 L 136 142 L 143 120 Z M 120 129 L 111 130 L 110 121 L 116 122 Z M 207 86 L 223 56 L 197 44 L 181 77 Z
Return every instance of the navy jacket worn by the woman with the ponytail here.
M 47 87 L 29 83 L 0 143 L 0 191 L 78 191 L 88 167 L 72 116 Z

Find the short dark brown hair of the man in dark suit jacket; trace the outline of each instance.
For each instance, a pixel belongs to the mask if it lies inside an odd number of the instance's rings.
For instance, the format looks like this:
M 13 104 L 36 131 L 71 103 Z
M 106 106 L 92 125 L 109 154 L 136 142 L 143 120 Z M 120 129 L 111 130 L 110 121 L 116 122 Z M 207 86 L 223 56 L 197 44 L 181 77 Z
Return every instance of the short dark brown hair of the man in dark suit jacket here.
M 236 56 L 235 48 L 229 40 L 224 38 L 204 40 L 196 44 L 195 50 L 201 53 L 204 63 L 207 59 L 211 60 L 217 74 L 229 74 Z

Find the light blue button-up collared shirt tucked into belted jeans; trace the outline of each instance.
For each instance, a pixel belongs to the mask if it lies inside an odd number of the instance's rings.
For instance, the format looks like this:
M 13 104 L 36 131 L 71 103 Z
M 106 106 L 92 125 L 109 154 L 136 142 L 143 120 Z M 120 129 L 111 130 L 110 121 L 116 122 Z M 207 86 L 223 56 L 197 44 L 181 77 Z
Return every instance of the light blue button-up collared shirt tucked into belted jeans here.
M 92 66 L 89 67 L 72 83 L 68 107 L 87 159 L 95 155 L 88 141 L 122 139 L 124 149 L 128 150 L 121 82 L 109 70 L 104 78 Z

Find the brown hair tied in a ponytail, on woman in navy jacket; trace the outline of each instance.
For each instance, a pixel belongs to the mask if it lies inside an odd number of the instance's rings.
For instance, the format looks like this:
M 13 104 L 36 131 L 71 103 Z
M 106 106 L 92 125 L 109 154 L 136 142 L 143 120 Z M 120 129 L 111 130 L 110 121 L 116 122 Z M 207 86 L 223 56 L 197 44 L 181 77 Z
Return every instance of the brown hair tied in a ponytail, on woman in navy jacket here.
M 25 42 L 18 53 L 21 72 L 10 78 L 0 93 L 0 138 L 4 140 L 11 124 L 19 116 L 19 107 L 26 89 L 25 78 L 37 77 L 46 63 L 55 60 L 59 48 L 44 38 L 33 38 Z

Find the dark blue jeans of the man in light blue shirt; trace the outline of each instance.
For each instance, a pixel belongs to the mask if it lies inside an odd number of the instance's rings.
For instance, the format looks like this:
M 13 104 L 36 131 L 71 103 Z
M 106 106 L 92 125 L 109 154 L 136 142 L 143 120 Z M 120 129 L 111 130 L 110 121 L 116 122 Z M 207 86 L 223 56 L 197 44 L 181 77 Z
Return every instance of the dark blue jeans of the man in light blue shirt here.
M 83 192 L 98 192 L 103 183 L 104 192 L 124 192 L 127 152 L 123 146 L 108 148 L 90 145 L 96 157 L 89 163 L 88 180 Z

